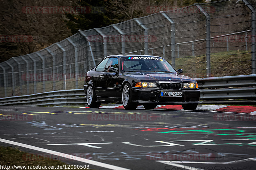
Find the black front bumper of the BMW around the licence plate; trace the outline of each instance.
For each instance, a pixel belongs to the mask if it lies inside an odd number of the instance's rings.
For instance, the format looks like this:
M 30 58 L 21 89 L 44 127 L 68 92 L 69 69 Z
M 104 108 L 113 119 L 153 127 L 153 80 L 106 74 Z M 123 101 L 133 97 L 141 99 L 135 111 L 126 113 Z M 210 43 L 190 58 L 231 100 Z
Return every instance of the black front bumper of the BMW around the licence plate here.
M 182 92 L 182 97 L 161 97 L 161 91 Z M 160 89 L 138 89 L 132 88 L 132 101 L 139 104 L 154 103 L 157 105 L 173 105 L 173 104 L 198 104 L 200 97 L 199 89 L 189 90 L 160 90 Z

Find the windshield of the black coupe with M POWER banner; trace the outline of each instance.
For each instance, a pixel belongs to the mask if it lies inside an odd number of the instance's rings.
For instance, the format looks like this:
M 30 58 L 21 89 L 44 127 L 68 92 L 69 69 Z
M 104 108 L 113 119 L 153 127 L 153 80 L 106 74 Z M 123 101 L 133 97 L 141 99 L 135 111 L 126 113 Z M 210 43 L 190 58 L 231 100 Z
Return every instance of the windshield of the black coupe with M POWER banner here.
M 122 57 L 120 59 L 121 70 L 123 72 L 129 71 L 161 71 L 161 72 L 173 72 L 175 69 L 166 60 L 159 57 L 151 56 L 131 56 Z

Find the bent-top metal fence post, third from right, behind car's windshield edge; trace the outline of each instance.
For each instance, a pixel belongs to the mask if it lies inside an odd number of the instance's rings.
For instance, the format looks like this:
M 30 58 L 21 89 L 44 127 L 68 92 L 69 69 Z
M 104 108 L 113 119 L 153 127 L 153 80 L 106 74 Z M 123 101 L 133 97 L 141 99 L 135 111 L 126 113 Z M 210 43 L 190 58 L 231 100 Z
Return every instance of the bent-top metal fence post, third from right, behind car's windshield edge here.
M 172 51 L 172 66 L 175 68 L 175 23 L 166 13 L 160 12 L 164 18 L 166 18 L 171 23 L 171 51 Z M 179 49 L 178 49 L 179 50 Z M 178 51 L 179 53 L 179 51 Z

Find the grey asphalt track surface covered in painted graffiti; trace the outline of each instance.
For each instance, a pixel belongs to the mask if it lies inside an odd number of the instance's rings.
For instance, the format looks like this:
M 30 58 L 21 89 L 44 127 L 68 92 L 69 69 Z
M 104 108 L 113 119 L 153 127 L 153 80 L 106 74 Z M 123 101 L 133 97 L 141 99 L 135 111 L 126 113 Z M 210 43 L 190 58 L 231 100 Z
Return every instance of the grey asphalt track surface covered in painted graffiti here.
M 1 106 L 0 134 L 2 146 L 92 169 L 256 169 L 252 114 Z

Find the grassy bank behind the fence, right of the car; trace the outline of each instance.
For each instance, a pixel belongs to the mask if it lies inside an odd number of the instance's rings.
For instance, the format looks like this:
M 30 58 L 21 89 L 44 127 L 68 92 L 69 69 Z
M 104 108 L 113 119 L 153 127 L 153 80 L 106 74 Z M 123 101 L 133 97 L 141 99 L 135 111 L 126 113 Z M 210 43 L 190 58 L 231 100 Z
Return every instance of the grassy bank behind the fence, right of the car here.
M 211 77 L 252 74 L 251 51 L 225 51 L 211 54 Z M 192 78 L 206 76 L 206 55 L 176 58 L 176 68 Z

